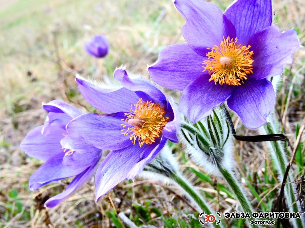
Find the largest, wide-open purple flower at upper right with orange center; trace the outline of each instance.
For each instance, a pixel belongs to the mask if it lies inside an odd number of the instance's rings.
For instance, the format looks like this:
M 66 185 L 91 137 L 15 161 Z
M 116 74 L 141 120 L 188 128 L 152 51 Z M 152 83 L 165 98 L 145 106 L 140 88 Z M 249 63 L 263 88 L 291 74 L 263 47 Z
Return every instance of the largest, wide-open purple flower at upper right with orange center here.
M 224 13 L 203 0 L 175 0 L 187 44 L 172 44 L 148 68 L 158 84 L 183 90 L 180 110 L 192 122 L 227 101 L 245 126 L 258 128 L 274 106 L 268 77 L 282 73 L 299 47 L 294 30 L 271 26 L 271 0 L 238 0 Z

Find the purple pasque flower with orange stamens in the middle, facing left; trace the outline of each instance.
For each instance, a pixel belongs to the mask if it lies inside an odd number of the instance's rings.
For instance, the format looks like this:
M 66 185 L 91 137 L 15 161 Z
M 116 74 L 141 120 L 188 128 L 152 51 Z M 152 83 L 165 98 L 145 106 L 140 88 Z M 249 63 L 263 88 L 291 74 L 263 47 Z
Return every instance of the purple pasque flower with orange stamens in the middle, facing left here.
M 149 82 L 114 72 L 121 86 L 108 88 L 77 76 L 83 97 L 105 114 L 78 116 L 67 125 L 69 136 L 112 150 L 95 174 L 95 200 L 126 179 L 133 179 L 163 148 L 178 142 L 179 119 L 174 102 Z

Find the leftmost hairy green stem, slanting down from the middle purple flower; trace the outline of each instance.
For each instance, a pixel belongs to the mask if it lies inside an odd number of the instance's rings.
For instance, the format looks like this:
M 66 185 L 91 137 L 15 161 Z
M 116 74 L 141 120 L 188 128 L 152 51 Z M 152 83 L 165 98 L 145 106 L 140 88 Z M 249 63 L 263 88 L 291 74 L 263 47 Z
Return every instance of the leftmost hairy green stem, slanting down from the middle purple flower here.
M 200 196 L 199 192 L 197 192 L 190 183 L 188 183 L 187 180 L 185 180 L 183 177 L 181 177 L 177 173 L 171 174 L 171 179 L 173 179 L 184 191 L 187 193 L 187 195 L 198 204 L 202 212 L 204 212 L 207 215 L 213 214 L 216 217 L 216 221 L 213 224 L 216 228 L 222 228 L 223 226 L 220 224 L 216 224 L 216 222 L 219 220 L 217 219 L 217 215 L 215 212 L 213 212 L 209 206 L 204 202 L 203 198 Z M 204 218 L 203 218 L 204 219 Z

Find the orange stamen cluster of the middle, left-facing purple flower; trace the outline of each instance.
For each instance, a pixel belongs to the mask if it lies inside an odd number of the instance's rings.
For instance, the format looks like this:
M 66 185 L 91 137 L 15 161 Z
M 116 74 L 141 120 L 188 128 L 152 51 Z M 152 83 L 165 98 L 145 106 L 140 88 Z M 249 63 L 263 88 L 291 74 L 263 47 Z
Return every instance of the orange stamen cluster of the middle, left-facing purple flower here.
M 163 116 L 165 113 L 166 111 L 160 105 L 152 101 L 142 102 L 140 98 L 137 104 L 131 105 L 129 113 L 125 113 L 127 118 L 121 119 L 125 121 L 121 126 L 127 127 L 122 130 L 125 131 L 122 134 L 129 135 L 134 145 L 137 139 L 140 147 L 144 143 L 152 144 L 156 137 L 160 137 L 162 129 L 168 122 L 169 118 Z

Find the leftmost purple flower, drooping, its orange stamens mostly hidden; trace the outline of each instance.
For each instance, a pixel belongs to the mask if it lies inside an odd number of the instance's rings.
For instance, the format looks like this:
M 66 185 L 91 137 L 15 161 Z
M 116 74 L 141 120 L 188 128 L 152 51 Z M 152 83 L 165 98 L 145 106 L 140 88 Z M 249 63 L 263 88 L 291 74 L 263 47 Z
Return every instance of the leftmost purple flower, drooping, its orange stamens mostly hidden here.
M 30 177 L 30 190 L 74 177 L 64 192 L 45 202 L 46 207 L 54 207 L 92 177 L 102 151 L 67 135 L 66 125 L 83 114 L 81 111 L 61 100 L 48 102 L 42 108 L 49 112 L 44 125 L 31 130 L 20 147 L 30 157 L 45 161 Z

